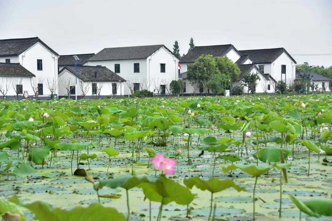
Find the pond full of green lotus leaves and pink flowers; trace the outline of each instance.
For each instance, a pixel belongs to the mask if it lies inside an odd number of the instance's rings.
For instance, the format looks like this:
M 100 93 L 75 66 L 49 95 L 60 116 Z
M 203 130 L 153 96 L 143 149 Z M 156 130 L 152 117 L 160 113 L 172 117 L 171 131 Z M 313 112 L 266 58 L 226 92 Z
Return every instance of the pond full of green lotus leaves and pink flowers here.
M 0 220 L 332 220 L 332 95 L 0 102 Z

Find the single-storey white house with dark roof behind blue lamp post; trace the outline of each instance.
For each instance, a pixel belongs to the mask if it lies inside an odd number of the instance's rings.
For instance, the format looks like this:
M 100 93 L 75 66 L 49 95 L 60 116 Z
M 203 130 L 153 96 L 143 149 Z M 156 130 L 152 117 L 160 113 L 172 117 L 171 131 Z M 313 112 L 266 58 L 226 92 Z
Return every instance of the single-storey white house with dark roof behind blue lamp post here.
M 75 66 L 59 71 L 59 97 L 75 99 Z M 105 66 L 77 66 L 77 99 L 124 95 L 124 78 Z

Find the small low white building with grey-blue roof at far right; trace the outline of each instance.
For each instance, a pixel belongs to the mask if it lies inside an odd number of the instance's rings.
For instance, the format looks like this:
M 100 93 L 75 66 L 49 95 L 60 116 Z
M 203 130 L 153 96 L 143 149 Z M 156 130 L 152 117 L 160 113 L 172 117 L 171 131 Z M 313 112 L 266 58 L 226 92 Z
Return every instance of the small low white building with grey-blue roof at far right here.
M 305 73 L 300 72 L 296 73 L 295 80 L 304 80 L 305 81 Z M 316 74 L 314 72 L 307 73 L 307 82 L 310 84 L 310 90 L 315 91 L 315 86 L 317 85 L 318 91 L 331 91 L 330 82 L 332 79 L 328 77 L 324 77 L 320 74 Z M 310 82 L 310 83 L 309 83 Z

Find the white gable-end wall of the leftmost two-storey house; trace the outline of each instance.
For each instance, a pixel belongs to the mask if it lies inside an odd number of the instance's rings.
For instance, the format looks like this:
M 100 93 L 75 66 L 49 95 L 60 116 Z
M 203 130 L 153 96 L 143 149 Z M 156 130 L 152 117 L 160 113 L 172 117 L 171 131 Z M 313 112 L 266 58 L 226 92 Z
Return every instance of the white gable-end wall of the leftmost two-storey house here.
M 43 94 L 50 95 L 49 89 L 46 87 L 47 79 L 58 79 L 58 61 L 57 56 L 50 52 L 40 42 L 31 46 L 28 50 L 18 56 L 19 63 L 27 68 L 30 72 L 36 75 L 36 78 L 40 77 L 44 79 L 43 82 Z M 42 70 L 37 70 L 37 59 L 42 60 Z M 12 62 L 12 61 L 11 61 Z M 30 82 L 29 82 L 30 85 Z M 24 86 L 23 86 L 24 88 Z M 29 95 L 33 94 L 32 89 L 28 90 Z M 58 94 L 56 91 L 55 94 Z

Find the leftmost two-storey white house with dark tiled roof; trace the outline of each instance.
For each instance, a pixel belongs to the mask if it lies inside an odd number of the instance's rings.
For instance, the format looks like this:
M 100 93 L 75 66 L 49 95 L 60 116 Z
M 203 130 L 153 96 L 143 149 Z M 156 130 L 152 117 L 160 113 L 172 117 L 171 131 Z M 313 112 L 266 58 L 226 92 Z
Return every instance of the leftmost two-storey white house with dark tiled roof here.
M 49 98 L 51 91 L 58 94 L 58 56 L 38 37 L 0 40 L 0 63 L 19 63 L 35 75 L 29 79 L 11 77 L 18 82 L 19 99 L 23 98 L 24 91 L 28 92 L 30 98 L 35 98 L 34 91 L 38 91 L 39 99 Z M 9 91 L 7 95 L 11 99 L 16 93 Z

